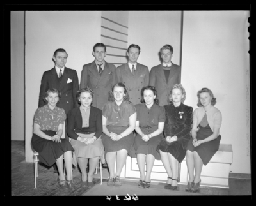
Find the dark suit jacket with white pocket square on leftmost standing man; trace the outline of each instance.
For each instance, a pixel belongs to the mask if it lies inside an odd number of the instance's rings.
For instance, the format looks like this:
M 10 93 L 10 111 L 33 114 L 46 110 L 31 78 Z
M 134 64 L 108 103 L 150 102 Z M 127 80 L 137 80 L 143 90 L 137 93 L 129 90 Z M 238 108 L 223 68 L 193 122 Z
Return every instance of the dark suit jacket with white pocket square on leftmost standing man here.
M 72 80 L 72 82 L 67 83 L 68 79 Z M 42 107 L 46 104 L 43 98 L 45 92 L 50 88 L 58 89 L 58 91 L 61 92 L 61 99 L 57 106 L 65 110 L 67 117 L 68 111 L 78 106 L 76 93 L 79 87 L 76 70 L 65 67 L 61 83 L 55 67 L 45 71 L 41 80 L 38 107 Z

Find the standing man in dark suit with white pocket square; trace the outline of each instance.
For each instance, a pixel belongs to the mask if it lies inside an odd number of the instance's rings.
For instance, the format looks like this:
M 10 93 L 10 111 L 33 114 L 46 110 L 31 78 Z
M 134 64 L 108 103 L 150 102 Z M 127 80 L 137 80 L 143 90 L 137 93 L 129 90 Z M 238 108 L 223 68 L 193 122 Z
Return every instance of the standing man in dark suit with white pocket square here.
M 66 117 L 69 110 L 78 106 L 76 93 L 79 89 L 76 70 L 65 67 L 67 57 L 68 54 L 63 48 L 58 48 L 54 52 L 52 59 L 55 62 L 55 66 L 51 70 L 44 72 L 41 80 L 38 103 L 38 107 L 42 107 L 46 104 L 44 94 L 49 88 L 58 89 L 58 91 L 61 92 L 61 99 L 57 106 L 65 110 Z M 67 127 L 67 121 L 65 121 L 65 124 Z M 66 139 L 69 141 L 67 132 Z M 54 164 L 54 173 L 56 173 L 56 170 L 56 164 Z

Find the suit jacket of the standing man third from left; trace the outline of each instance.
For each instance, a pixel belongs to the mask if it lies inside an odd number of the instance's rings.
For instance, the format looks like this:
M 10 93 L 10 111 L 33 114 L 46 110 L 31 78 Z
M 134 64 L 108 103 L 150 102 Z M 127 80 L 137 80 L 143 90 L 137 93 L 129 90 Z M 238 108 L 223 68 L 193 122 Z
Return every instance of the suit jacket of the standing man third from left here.
M 148 67 L 137 63 L 135 75 L 132 75 L 131 69 L 128 63 L 118 66 L 116 68 L 118 82 L 124 83 L 128 89 L 130 101 L 134 104 L 140 104 L 141 89 L 148 86 L 149 82 L 149 70 Z

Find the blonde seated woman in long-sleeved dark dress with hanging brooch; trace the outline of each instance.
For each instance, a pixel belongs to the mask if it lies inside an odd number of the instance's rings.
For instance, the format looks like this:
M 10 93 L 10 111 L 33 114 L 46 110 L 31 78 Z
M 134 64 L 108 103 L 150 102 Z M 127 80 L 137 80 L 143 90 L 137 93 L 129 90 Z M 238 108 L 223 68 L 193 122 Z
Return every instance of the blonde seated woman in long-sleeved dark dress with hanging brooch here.
M 181 163 L 186 155 L 186 146 L 190 139 L 193 108 L 184 105 L 185 89 L 181 84 L 175 84 L 170 92 L 170 105 L 164 105 L 166 121 L 164 123 L 164 138 L 157 149 L 168 173 L 164 189 L 177 189 L 178 161 Z

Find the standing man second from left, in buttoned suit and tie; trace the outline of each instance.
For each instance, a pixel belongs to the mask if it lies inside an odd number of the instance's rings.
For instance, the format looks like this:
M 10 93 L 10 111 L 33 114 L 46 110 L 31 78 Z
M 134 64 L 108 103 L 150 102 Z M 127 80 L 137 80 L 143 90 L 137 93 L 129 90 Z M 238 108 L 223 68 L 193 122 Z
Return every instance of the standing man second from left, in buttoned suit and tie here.
M 108 92 L 117 82 L 116 67 L 104 60 L 107 48 L 103 43 L 96 43 L 92 54 L 95 60 L 83 66 L 80 89 L 90 87 L 94 92 L 92 105 L 102 110 L 108 102 Z

